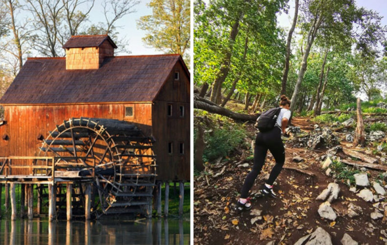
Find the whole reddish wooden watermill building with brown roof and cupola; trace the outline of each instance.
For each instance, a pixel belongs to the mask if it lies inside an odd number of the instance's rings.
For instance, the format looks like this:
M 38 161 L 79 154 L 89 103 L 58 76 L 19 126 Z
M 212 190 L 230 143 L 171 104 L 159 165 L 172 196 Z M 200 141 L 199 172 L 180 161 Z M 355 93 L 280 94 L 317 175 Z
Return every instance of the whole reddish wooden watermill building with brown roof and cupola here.
M 108 162 L 132 161 L 127 158 L 134 156 L 140 161 L 139 158 L 149 156 L 145 152 L 146 139 L 156 159 L 156 181 L 189 181 L 190 73 L 181 56 L 114 56 L 117 46 L 107 35 L 72 36 L 63 48 L 66 50 L 63 58 L 28 58 L 0 99 L 4 107 L 0 157 L 8 157 L 7 162 L 0 160 L 1 176 L 39 172 L 37 167 L 14 167 L 9 172 L 9 166 L 4 163 L 9 164 L 11 156 L 35 157 L 31 161 L 12 159 L 12 166 L 34 166 L 39 160 L 36 157 L 44 156 L 66 164 L 75 157 L 76 163 L 87 164 L 90 152 L 95 158 L 94 167 L 103 165 L 101 158 L 109 154 L 104 167 Z M 77 128 L 90 127 L 87 122 L 98 125 L 93 124 L 91 129 Z M 135 129 L 128 129 L 132 126 Z M 93 141 L 91 135 L 82 134 L 97 135 L 101 132 L 97 127 L 108 133 L 103 142 L 107 142 L 109 150 L 113 152 L 111 148 L 119 148 L 114 149 L 115 153 L 103 154 L 103 147 L 100 152 L 88 149 L 101 144 L 95 142 L 97 136 Z M 137 133 L 134 136 L 118 132 L 119 128 L 130 132 L 138 129 L 141 137 Z M 99 137 L 98 141 L 105 136 Z M 109 143 L 111 139 L 115 142 Z M 145 151 L 134 152 L 140 149 Z M 95 177 L 96 172 L 91 175 Z M 116 175 L 123 175 L 123 172 L 116 170 L 114 174 L 117 179 Z M 7 178 L 10 181 L 9 176 Z

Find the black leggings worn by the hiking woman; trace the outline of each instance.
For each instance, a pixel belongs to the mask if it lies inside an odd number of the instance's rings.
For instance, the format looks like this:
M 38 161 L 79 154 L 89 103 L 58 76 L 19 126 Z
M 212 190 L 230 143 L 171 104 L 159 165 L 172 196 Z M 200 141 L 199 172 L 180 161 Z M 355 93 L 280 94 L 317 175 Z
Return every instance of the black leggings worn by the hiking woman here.
M 281 140 L 281 129 L 278 126 L 275 126 L 268 132 L 259 132 L 257 134 L 254 149 L 254 165 L 253 169 L 251 172 L 249 172 L 249 174 L 247 174 L 247 177 L 244 180 L 241 191 L 241 198 L 247 197 L 248 191 L 251 189 L 255 179 L 261 172 L 261 169 L 265 164 L 267 149 L 270 150 L 276 162 L 275 166 L 270 172 L 269 179 L 266 182 L 269 185 L 273 185 L 275 179 L 282 170 L 282 166 L 285 163 L 285 148 Z

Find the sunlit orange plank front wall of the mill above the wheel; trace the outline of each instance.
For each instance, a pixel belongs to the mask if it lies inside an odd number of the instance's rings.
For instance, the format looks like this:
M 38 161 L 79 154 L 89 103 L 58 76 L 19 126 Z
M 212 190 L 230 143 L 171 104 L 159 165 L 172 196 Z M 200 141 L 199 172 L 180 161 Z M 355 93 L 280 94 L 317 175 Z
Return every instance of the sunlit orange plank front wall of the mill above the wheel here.
M 0 138 L 0 156 L 36 156 L 48 131 L 55 129 L 64 120 L 76 117 L 95 117 L 125 120 L 135 123 L 145 134 L 151 133 L 152 104 L 133 103 L 134 115 L 125 118 L 125 104 L 88 104 L 88 105 L 28 105 L 4 106 L 6 125 L 0 126 L 1 137 L 6 134 L 8 140 Z M 20 164 L 16 163 L 15 164 Z M 25 164 L 25 163 L 24 163 Z M 26 174 L 25 172 L 13 174 Z

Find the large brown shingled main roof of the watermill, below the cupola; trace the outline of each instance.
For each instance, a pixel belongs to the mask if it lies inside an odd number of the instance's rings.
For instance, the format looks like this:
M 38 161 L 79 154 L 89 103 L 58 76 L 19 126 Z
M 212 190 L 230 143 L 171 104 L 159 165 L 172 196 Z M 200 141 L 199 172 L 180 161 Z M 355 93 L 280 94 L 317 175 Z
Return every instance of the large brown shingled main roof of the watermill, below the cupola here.
M 66 70 L 65 58 L 28 58 L 0 104 L 153 101 L 178 54 L 105 58 L 96 70 Z

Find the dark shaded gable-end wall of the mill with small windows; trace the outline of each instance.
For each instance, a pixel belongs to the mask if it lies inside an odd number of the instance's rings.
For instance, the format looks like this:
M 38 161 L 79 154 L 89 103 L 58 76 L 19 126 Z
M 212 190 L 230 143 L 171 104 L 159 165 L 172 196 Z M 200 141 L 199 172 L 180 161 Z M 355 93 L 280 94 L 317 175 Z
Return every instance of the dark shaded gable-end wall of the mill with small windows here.
M 179 72 L 179 80 L 174 79 L 175 72 Z M 168 104 L 172 104 L 170 117 Z M 180 117 L 179 106 L 184 106 L 184 117 Z M 156 97 L 152 114 L 158 179 L 190 180 L 190 81 L 180 62 Z M 169 142 L 173 144 L 172 154 L 168 152 Z M 180 143 L 184 143 L 184 154 L 179 152 Z

